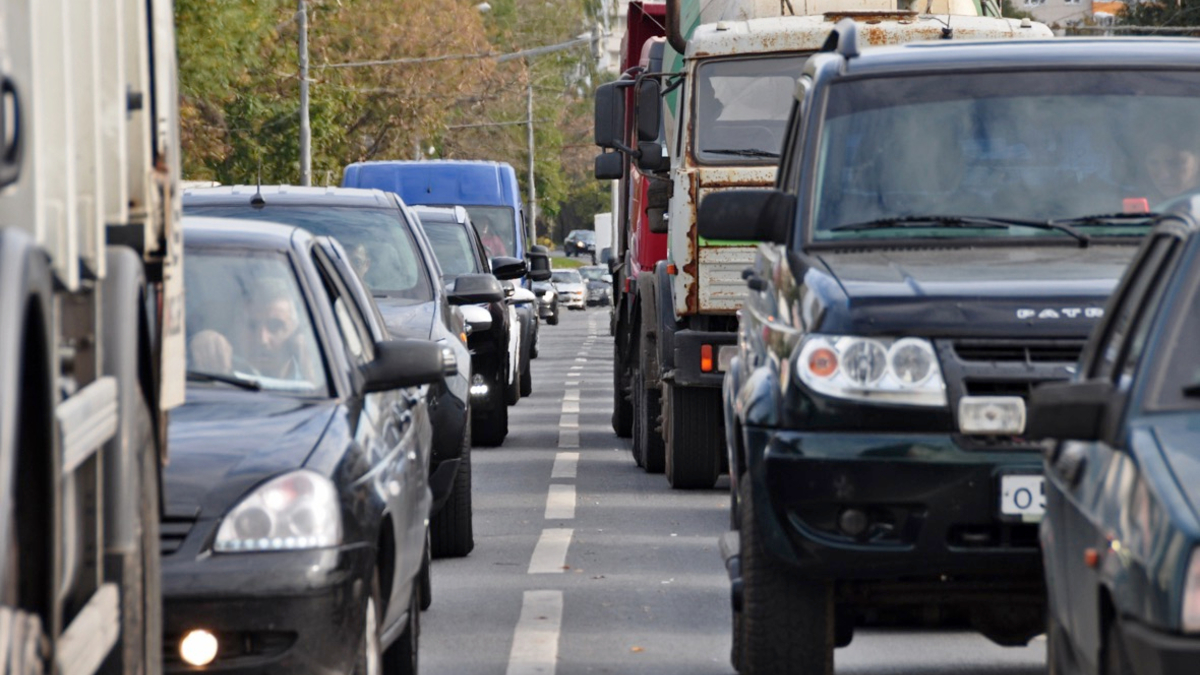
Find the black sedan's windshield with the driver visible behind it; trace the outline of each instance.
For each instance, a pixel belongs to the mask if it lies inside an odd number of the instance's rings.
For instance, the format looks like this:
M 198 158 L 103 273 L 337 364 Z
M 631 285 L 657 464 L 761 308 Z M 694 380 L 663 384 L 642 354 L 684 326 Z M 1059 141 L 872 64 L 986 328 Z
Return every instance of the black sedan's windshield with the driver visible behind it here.
M 187 380 L 328 396 L 329 378 L 284 253 L 188 249 Z

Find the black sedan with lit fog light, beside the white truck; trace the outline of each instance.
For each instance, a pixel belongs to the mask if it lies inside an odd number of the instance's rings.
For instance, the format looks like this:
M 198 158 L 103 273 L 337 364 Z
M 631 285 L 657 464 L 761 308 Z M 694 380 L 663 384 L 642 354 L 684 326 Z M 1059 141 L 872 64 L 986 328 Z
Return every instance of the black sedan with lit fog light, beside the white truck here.
M 430 592 L 424 389 L 452 357 L 378 340 L 365 294 L 300 228 L 184 229 L 188 372 L 163 478 L 164 671 L 415 674 Z

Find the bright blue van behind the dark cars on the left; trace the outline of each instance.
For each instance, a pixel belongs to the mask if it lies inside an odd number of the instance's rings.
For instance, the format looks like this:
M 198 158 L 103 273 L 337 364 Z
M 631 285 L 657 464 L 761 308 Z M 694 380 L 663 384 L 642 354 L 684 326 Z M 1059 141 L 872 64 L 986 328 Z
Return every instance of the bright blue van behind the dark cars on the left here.
M 406 204 L 466 207 L 488 256 L 524 258 L 528 223 L 512 165 L 474 160 L 356 162 L 343 187 L 376 187 Z

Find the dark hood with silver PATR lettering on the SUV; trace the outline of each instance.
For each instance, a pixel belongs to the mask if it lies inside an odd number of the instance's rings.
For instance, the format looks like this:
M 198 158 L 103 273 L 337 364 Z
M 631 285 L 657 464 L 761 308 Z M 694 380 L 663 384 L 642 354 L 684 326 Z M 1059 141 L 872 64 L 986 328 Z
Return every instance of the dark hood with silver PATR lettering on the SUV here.
M 817 253 L 835 329 L 1086 338 L 1134 245 L 889 249 Z M 1019 334 L 1014 334 L 1019 329 Z

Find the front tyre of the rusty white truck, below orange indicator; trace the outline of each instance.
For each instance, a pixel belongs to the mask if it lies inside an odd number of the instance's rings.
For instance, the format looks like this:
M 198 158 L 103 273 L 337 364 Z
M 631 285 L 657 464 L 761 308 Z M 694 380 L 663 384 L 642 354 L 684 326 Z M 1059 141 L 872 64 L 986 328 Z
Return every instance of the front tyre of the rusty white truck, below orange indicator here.
M 662 425 L 667 480 L 676 490 L 708 489 L 721 476 L 721 398 L 709 389 L 667 386 Z

